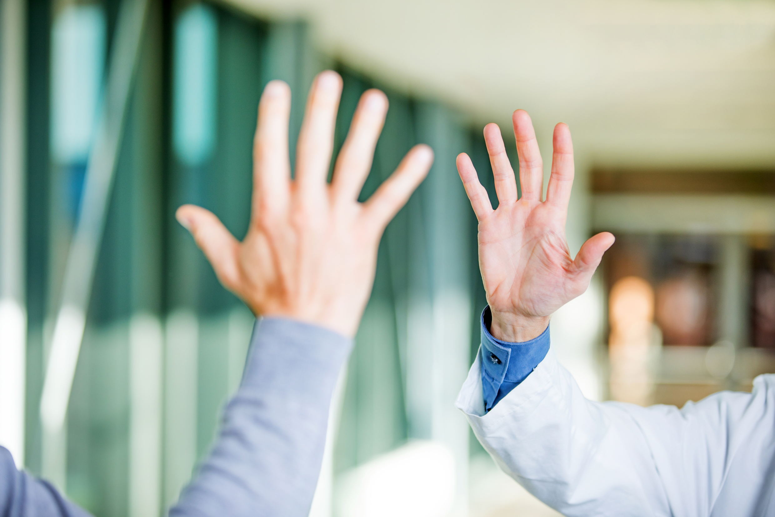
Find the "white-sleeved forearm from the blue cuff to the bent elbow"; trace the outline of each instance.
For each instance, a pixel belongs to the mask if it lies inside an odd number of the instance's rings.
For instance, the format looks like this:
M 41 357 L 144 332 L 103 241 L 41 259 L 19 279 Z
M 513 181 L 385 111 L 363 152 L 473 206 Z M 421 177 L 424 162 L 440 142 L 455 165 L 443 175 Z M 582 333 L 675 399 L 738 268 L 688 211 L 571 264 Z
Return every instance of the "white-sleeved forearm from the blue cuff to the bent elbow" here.
M 546 504 L 565 515 L 667 513 L 635 420 L 621 406 L 587 401 L 551 351 L 486 414 L 480 394 L 474 364 L 457 406 L 499 467 Z

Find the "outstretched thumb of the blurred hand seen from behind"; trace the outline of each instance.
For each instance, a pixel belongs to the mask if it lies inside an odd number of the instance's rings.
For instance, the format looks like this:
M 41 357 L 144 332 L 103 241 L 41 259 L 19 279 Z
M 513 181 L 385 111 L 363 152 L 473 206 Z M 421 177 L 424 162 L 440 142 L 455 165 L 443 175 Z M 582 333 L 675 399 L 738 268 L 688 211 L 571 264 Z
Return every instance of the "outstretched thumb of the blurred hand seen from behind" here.
M 223 286 L 232 290 L 239 278 L 237 250 L 239 241 L 209 210 L 195 205 L 183 205 L 175 212 L 177 222 L 191 232 L 199 249 L 205 253 Z

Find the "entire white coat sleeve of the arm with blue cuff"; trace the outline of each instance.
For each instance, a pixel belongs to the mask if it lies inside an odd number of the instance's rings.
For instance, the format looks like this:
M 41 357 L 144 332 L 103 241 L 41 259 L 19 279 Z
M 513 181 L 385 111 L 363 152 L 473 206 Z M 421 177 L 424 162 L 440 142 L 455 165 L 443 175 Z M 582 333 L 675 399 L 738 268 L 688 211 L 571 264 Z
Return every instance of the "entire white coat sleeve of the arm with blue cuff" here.
M 478 356 L 477 356 L 478 357 Z M 480 365 L 457 400 L 498 466 L 565 515 L 771 515 L 775 380 L 683 409 L 584 398 L 549 350 L 490 412 Z

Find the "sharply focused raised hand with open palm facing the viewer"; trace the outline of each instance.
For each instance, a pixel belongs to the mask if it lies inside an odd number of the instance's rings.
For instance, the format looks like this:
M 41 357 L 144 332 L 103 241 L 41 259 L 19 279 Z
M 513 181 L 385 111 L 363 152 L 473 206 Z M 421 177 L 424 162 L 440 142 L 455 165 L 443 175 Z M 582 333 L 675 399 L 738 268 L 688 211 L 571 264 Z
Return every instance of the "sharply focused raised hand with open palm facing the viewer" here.
M 501 130 L 484 128 L 484 140 L 495 178 L 498 209 L 467 154 L 457 157 L 457 170 L 479 220 L 479 267 L 492 312 L 491 333 L 521 342 L 543 333 L 549 316 L 587 290 L 611 233 L 598 233 L 581 246 L 574 260 L 565 239 L 570 188 L 574 182 L 574 151 L 568 126 L 554 128 L 552 174 L 543 193 L 543 161 L 527 112 L 512 117 L 519 156 L 522 198 L 517 199 L 514 171 L 506 156 Z

